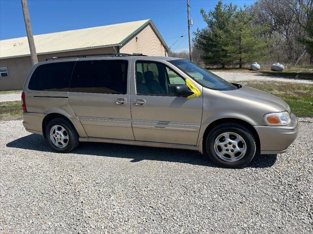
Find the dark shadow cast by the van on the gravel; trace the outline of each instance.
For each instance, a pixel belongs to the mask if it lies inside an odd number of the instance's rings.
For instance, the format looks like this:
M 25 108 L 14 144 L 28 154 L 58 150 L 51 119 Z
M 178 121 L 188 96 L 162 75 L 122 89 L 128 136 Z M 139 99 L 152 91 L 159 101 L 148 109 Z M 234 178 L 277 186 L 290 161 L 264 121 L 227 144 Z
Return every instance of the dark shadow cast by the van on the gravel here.
M 54 152 L 40 135 L 31 134 L 18 138 L 6 144 L 9 148 L 20 148 L 42 152 Z M 110 143 L 81 142 L 79 147 L 71 154 L 94 155 L 106 157 L 130 158 L 135 163 L 141 160 L 156 160 L 167 162 L 188 163 L 208 167 L 217 167 L 211 160 L 199 152 L 191 150 L 155 148 L 144 146 L 132 146 Z M 261 155 L 254 159 L 247 167 L 266 168 L 271 167 L 276 161 L 277 155 Z

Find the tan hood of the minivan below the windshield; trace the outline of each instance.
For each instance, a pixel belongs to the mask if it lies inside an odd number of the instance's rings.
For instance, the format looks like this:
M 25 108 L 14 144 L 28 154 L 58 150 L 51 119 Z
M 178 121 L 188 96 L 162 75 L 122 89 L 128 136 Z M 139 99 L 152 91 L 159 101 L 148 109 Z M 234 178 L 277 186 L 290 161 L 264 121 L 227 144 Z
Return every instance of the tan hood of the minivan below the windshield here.
M 225 94 L 246 98 L 249 100 L 261 102 L 270 106 L 277 108 L 279 111 L 287 111 L 289 109 L 288 104 L 283 101 L 281 98 L 278 98 L 274 95 L 268 94 L 258 89 L 250 88 L 245 85 L 242 85 L 242 88 L 222 91 Z

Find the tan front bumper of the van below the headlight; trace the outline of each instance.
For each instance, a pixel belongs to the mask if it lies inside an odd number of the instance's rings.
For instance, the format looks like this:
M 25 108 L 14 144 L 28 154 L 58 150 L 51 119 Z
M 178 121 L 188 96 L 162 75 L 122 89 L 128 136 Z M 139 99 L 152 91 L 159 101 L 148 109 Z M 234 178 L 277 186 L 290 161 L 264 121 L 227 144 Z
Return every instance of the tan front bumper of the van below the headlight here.
M 282 154 L 298 135 L 297 117 L 291 114 L 286 126 L 254 126 L 260 138 L 261 154 Z

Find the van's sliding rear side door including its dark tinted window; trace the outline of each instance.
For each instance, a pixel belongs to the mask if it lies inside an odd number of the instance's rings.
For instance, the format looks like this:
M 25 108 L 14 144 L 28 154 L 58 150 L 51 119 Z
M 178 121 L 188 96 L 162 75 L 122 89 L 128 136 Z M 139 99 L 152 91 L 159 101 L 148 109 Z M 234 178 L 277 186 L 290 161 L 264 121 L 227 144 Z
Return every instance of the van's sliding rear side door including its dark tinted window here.
M 88 137 L 134 140 L 127 71 L 122 59 L 76 62 L 68 103 Z

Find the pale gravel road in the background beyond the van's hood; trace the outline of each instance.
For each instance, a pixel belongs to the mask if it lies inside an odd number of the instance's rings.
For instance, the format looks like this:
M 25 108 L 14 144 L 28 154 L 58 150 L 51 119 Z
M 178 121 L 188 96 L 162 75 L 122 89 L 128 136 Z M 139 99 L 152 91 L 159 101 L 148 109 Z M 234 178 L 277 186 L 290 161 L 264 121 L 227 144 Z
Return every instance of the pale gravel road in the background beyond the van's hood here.
M 266 76 L 262 73 L 239 73 L 239 72 L 214 72 L 216 75 L 227 81 L 283 81 L 283 82 L 291 82 L 291 83 L 303 83 L 303 84 L 313 84 L 313 80 L 307 79 L 290 79 L 290 78 L 275 78 L 271 76 Z M 312 73 L 313 77 L 313 73 Z

